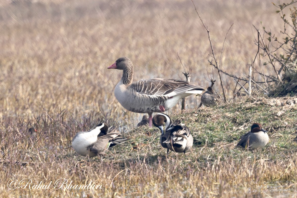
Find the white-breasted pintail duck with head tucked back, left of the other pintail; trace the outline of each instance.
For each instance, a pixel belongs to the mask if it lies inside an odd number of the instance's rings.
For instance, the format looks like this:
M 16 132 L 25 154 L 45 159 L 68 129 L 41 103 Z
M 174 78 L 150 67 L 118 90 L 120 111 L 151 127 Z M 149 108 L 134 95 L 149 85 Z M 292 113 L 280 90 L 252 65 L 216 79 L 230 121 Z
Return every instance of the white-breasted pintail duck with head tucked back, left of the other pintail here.
M 78 132 L 72 139 L 72 148 L 82 156 L 95 157 L 126 140 L 116 129 L 108 130 L 106 123 L 99 123 L 89 131 Z

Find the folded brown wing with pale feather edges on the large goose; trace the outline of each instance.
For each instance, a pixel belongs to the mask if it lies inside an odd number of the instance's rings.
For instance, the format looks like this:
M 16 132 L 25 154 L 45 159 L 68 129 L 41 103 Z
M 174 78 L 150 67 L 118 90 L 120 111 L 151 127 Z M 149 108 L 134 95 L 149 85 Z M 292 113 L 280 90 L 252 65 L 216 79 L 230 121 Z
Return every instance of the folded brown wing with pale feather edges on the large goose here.
M 191 90 L 203 90 L 202 87 L 192 85 L 183 80 L 152 78 L 139 80 L 130 85 L 139 94 L 156 95 L 156 96 L 175 96 Z

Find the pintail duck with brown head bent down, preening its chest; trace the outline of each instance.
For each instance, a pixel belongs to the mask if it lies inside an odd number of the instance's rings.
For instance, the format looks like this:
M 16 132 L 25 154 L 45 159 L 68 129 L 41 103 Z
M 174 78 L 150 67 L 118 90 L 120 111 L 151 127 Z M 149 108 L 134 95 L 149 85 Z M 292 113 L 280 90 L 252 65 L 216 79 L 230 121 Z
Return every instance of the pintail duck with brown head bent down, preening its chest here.
M 163 124 L 165 123 L 165 132 Z M 164 113 L 157 113 L 153 118 L 154 126 L 161 131 L 160 143 L 163 148 L 176 153 L 186 153 L 193 146 L 193 137 L 190 129 L 183 124 L 172 123 L 170 117 Z

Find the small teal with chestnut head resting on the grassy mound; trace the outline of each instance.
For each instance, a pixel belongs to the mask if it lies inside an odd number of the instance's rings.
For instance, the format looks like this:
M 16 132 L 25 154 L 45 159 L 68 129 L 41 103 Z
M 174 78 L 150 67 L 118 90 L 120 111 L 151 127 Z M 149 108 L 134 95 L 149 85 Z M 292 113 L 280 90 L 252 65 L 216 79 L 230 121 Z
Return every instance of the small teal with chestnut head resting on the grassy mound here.
M 262 129 L 262 125 L 259 123 L 253 123 L 251 131 L 247 132 L 241 137 L 238 142 L 238 147 L 243 147 L 249 150 L 257 150 L 263 148 L 269 141 L 267 131 Z

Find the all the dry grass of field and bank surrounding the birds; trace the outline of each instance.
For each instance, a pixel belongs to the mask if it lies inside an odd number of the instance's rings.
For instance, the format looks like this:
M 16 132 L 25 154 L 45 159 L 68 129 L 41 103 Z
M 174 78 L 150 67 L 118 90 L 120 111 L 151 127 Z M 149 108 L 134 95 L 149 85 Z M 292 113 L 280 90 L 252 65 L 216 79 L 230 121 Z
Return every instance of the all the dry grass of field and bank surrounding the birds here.
M 282 28 L 270 3 L 195 4 L 216 53 L 234 23 L 222 67 L 238 76 L 248 73 L 247 64 L 257 52 L 252 25 L 260 27 L 263 21 L 276 34 Z M 121 72 L 107 67 L 121 56 L 134 63 L 135 79 L 182 79 L 178 52 L 192 67 L 192 82 L 208 86 L 204 74 L 211 51 L 191 1 L 19 0 L 1 1 L 0 6 L 3 197 L 275 197 L 290 192 L 287 197 L 296 197 L 296 143 L 290 140 L 297 107 L 296 102 L 286 103 L 290 98 L 195 110 L 200 99 L 189 97 L 188 107 L 194 110 L 181 113 L 177 106 L 169 114 L 191 128 L 195 146 L 185 155 L 170 153 L 168 159 L 159 145 L 159 131 L 134 129 L 142 115 L 116 101 L 113 88 Z M 226 76 L 223 80 L 231 98 L 235 81 Z M 129 142 L 111 148 L 103 161 L 78 163 L 85 158 L 69 148 L 73 135 L 108 118 L 110 125 L 120 121 Z M 270 132 L 266 149 L 233 149 L 233 142 L 255 120 Z M 31 126 L 38 131 L 35 136 L 28 133 Z M 93 181 L 102 189 L 55 190 L 52 184 L 49 190 L 9 190 L 11 178 L 35 178 L 44 184 L 71 178 L 73 184 Z

